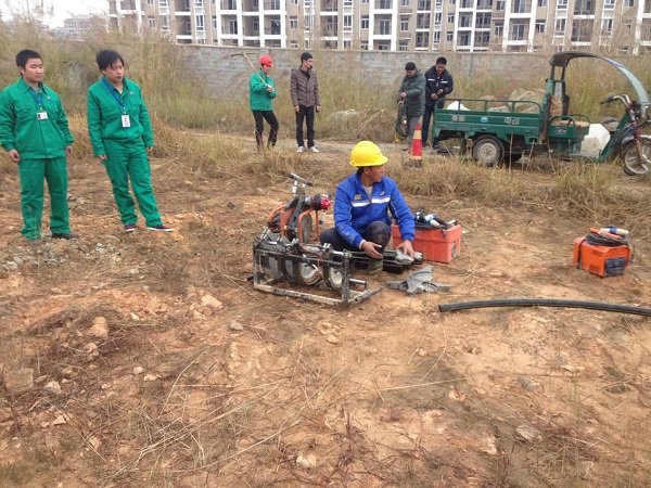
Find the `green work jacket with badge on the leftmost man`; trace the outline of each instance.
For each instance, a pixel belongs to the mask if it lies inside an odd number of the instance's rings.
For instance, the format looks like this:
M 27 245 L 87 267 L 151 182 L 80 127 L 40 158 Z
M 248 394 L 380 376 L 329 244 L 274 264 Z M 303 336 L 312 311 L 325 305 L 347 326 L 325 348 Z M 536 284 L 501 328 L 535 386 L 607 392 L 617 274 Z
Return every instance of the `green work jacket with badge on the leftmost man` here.
M 0 93 L 0 145 L 16 150 L 23 159 L 65 157 L 75 142 L 61 99 L 39 84 L 39 93 L 23 78 Z M 47 118 L 42 115 L 47 113 Z

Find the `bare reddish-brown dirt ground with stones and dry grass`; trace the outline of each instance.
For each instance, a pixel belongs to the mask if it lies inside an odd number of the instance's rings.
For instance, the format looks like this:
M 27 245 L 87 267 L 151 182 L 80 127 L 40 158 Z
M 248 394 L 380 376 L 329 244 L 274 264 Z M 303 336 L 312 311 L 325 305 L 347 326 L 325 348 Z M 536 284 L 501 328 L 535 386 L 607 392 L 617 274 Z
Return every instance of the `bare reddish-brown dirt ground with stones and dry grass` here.
M 349 144 L 322 149 L 301 157 L 331 191 Z M 15 171 L 0 174 L 0 486 L 649 485 L 649 318 L 437 308 L 649 307 L 648 240 L 634 235 L 624 277 L 600 279 L 571 266 L 572 243 L 608 222 L 407 195 L 463 226 L 460 256 L 435 264 L 451 292 L 329 307 L 246 281 L 285 181 L 152 167 L 176 232 L 124 234 L 103 168 L 73 159 L 81 237 L 38 245 L 20 236 Z

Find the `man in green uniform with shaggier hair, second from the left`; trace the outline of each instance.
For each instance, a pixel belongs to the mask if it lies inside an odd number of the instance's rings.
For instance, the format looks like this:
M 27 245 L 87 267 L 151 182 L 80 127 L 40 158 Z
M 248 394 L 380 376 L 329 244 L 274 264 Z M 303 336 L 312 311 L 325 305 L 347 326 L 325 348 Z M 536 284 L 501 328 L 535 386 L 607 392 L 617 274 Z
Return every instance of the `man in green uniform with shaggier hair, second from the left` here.
M 88 133 L 93 154 L 106 167 L 125 232 L 135 232 L 138 221 L 129 180 L 146 228 L 171 232 L 161 220 L 152 189 L 148 152 L 154 133 L 140 87 L 125 77 L 119 53 L 100 51 L 97 62 L 102 77 L 88 89 Z

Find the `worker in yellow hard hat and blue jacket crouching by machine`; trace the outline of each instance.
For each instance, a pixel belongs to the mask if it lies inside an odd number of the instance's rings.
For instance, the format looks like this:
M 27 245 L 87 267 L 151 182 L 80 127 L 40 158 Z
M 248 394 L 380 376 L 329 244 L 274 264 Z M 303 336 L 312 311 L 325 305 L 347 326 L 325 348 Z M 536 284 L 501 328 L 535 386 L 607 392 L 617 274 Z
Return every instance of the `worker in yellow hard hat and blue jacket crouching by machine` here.
M 329 243 L 335 251 L 363 251 L 370 258 L 369 273 L 382 271 L 382 253 L 391 239 L 391 217 L 397 220 L 403 236 L 397 248 L 414 256 L 413 215 L 396 182 L 384 176 L 386 160 L 371 141 L 353 147 L 350 164 L 357 172 L 337 184 L 334 229 L 321 232 L 321 244 Z

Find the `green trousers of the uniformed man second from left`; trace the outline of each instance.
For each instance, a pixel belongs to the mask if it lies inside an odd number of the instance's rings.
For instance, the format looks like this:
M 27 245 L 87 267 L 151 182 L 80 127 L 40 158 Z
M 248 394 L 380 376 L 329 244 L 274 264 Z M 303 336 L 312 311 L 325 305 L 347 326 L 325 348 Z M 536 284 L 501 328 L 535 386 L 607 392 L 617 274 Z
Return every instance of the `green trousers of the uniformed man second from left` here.
M 123 223 L 127 226 L 136 223 L 138 220 L 133 198 L 129 193 L 129 180 L 146 226 L 153 227 L 163 223 L 156 208 L 144 144 L 142 142 L 120 143 L 104 140 L 104 149 L 106 150 L 104 166 L 113 185 L 113 196 Z

